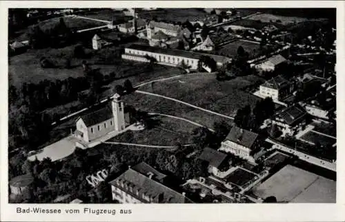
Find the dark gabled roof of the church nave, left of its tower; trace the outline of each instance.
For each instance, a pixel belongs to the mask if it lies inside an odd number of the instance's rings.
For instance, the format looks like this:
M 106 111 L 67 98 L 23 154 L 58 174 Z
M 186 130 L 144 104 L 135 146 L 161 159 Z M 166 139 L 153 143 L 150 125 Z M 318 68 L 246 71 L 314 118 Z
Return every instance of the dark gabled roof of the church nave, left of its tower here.
M 92 113 L 81 115 L 80 118 L 83 120 L 86 126 L 93 126 L 95 124 L 99 124 L 100 122 L 109 120 L 113 118 L 111 104 L 106 104 L 106 107 L 93 111 Z

